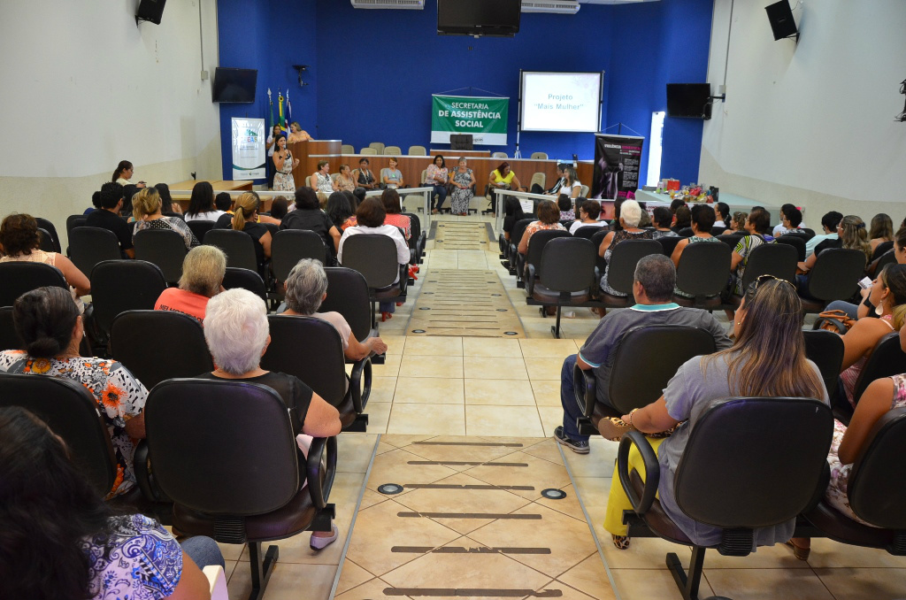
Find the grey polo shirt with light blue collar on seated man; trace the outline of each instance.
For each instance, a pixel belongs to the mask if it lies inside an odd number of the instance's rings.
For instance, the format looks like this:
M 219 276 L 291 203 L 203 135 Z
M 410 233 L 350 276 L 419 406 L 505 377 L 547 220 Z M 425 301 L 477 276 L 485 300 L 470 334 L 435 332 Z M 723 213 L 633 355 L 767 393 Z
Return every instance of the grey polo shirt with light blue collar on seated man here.
M 616 353 L 623 335 L 639 325 L 692 325 L 701 327 L 714 336 L 718 350 L 726 350 L 732 343 L 714 315 L 698 308 L 686 308 L 674 303 L 668 305 L 634 305 L 626 310 L 605 316 L 585 340 L 579 357 L 594 367 L 597 380 L 598 402 L 610 405 L 608 386 Z

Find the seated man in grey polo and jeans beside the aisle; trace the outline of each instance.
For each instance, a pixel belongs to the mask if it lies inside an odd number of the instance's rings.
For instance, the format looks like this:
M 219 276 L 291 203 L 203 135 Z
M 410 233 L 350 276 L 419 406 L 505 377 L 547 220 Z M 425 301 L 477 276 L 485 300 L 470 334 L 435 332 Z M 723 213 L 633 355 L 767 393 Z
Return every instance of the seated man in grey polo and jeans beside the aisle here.
M 672 302 L 674 285 L 676 267 L 670 262 L 670 258 L 660 254 L 642 257 L 635 267 L 632 284 L 636 304 L 628 310 L 605 316 L 579 353 L 566 357 L 560 373 L 560 402 L 563 404 L 564 421 L 562 426 L 554 430 L 554 439 L 559 443 L 580 454 L 589 451 L 588 436 L 580 434 L 576 428 L 576 419 L 582 416 L 582 412 L 575 402 L 573 367 L 578 364 L 584 371 L 593 369 L 597 382 L 597 402 L 610 406 L 608 390 L 616 350 L 623 335 L 633 327 L 656 324 L 702 327 L 714 336 L 718 350 L 730 347 L 727 335 L 713 315 Z

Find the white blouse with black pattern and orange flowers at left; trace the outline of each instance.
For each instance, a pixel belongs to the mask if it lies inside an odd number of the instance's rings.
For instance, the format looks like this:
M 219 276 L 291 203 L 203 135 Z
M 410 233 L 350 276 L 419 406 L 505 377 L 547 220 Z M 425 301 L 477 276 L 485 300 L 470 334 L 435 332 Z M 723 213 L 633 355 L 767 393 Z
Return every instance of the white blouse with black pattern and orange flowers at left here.
M 126 367 L 102 358 L 33 358 L 24 350 L 5 350 L 0 352 L 0 371 L 64 377 L 88 388 L 101 409 L 116 456 L 116 480 L 107 498 L 119 496 L 135 486 L 132 469 L 135 447 L 126 434 L 126 421 L 140 415 L 145 408 L 148 390 Z

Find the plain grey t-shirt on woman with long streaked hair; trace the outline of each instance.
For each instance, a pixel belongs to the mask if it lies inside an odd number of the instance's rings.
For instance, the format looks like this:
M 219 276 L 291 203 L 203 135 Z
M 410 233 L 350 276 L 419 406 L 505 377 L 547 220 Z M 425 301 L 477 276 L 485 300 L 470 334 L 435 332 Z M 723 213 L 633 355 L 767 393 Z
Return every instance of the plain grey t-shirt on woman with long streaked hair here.
M 729 386 L 728 361 L 735 354 L 722 354 L 714 360 L 709 360 L 707 369 L 702 369 L 702 356 L 683 363 L 677 374 L 667 384 L 664 390 L 664 400 L 667 402 L 667 412 L 677 421 L 686 421 L 679 425 L 677 431 L 660 444 L 658 460 L 660 462 L 660 485 L 658 494 L 660 506 L 673 519 L 682 531 L 699 546 L 715 546 L 720 543 L 720 529 L 705 525 L 689 518 L 679 509 L 676 496 L 673 493 L 673 478 L 676 474 L 679 460 L 683 450 L 689 442 L 689 434 L 709 408 L 720 402 L 725 402 L 728 397 L 742 395 L 732 392 Z M 821 382 L 821 400 L 828 402 L 827 391 L 824 389 L 824 380 L 821 372 L 812 362 L 808 364 L 814 370 L 818 381 Z M 795 519 L 774 527 L 760 527 L 755 532 L 753 541 L 755 546 L 773 546 L 786 542 L 793 536 Z M 755 547 L 752 548 L 753 551 Z

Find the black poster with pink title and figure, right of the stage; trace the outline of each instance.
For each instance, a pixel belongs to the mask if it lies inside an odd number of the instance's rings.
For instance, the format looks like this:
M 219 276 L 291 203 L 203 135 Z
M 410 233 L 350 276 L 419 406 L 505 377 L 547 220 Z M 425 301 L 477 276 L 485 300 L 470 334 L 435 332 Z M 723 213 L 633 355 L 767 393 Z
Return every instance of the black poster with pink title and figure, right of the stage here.
M 639 188 L 641 148 L 645 139 L 634 135 L 598 133 L 594 136 L 592 198 L 615 200 Z

